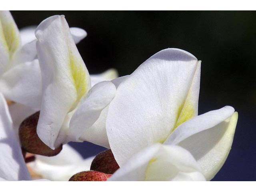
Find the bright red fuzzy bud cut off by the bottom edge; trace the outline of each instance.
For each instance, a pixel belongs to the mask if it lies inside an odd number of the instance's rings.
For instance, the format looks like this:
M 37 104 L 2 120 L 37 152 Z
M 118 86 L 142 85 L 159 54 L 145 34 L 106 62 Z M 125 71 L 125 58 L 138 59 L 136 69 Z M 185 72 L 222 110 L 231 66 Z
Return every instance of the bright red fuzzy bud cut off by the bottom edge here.
M 68 181 L 106 181 L 111 175 L 98 171 L 83 171 L 74 174 Z

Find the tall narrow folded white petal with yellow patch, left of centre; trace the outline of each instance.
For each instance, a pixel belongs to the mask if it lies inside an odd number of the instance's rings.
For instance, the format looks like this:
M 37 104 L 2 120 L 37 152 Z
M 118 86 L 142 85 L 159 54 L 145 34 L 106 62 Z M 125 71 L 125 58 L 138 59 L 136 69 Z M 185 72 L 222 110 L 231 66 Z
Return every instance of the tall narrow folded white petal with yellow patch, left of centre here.
M 90 90 L 88 70 L 76 48 L 64 16 L 52 16 L 36 29 L 42 73 L 42 105 L 37 133 L 54 149 L 66 114 Z

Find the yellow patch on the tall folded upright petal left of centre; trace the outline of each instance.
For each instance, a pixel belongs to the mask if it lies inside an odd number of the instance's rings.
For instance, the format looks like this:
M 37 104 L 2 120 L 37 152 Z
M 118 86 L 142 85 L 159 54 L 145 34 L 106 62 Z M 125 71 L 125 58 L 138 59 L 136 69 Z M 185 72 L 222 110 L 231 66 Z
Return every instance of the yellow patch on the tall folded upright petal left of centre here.
M 83 65 L 84 63 L 80 59 L 75 58 L 74 54 L 70 52 L 70 71 L 76 88 L 77 101 L 79 101 L 88 90 L 88 85 L 86 83 L 86 70 Z

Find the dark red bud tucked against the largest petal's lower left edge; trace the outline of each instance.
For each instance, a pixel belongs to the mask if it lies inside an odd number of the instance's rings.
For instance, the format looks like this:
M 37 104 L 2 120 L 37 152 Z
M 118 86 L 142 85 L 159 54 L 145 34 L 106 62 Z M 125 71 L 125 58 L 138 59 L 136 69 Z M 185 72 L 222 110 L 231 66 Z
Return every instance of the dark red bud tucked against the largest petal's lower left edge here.
M 119 169 L 111 149 L 105 150 L 94 158 L 91 164 L 91 170 L 102 173 L 113 174 Z

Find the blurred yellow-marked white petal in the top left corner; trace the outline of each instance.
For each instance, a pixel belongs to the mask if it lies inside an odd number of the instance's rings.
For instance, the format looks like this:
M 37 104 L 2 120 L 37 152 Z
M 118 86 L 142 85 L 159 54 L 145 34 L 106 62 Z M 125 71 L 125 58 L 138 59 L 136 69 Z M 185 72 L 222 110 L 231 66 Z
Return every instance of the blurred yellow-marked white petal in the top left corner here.
M 0 11 L 0 74 L 20 47 L 19 30 L 9 11 Z

